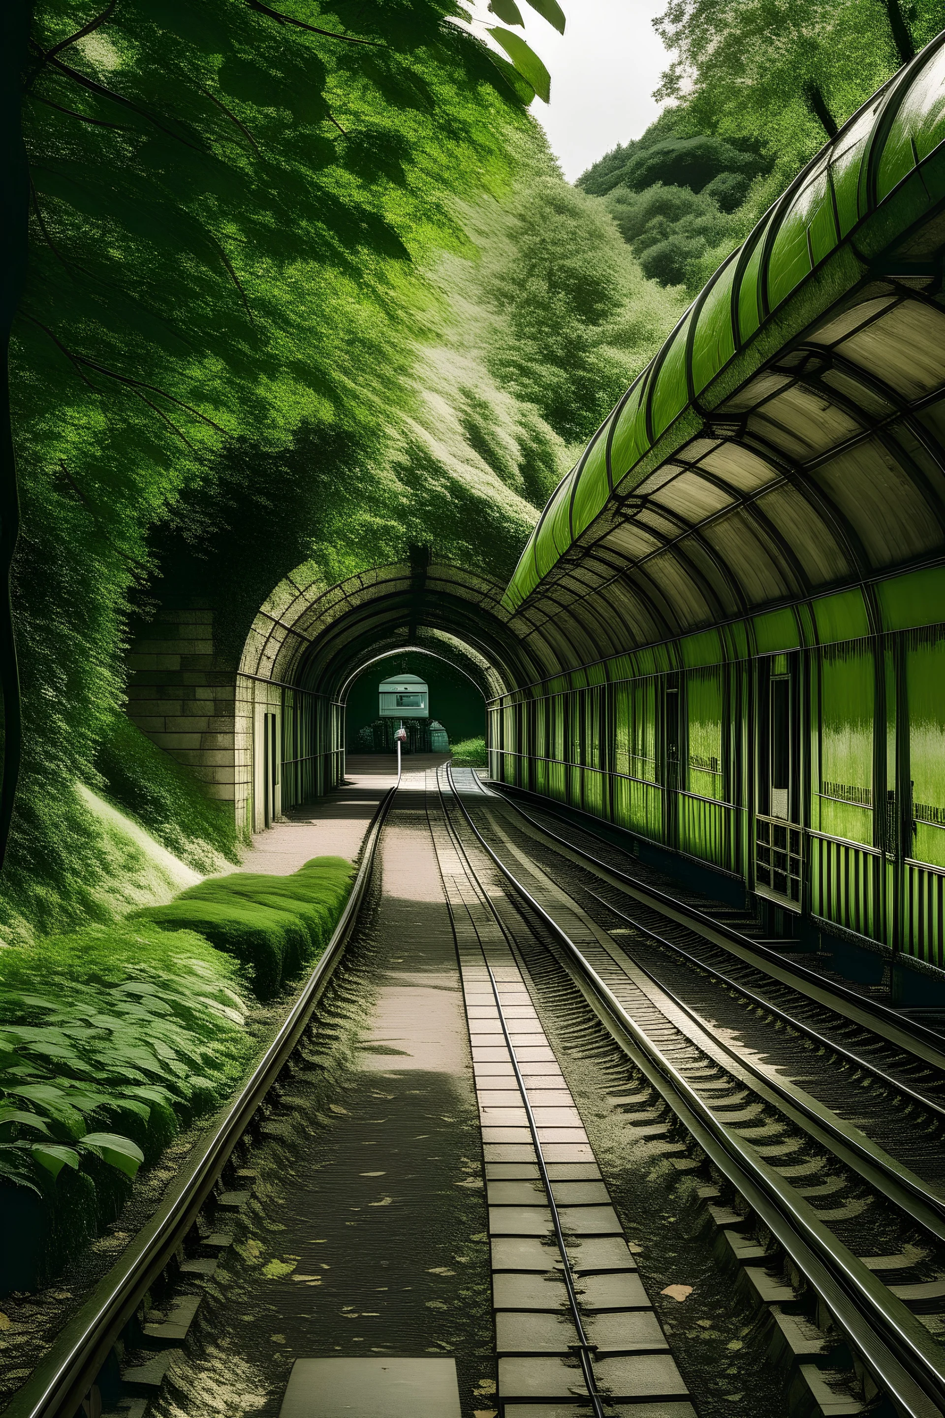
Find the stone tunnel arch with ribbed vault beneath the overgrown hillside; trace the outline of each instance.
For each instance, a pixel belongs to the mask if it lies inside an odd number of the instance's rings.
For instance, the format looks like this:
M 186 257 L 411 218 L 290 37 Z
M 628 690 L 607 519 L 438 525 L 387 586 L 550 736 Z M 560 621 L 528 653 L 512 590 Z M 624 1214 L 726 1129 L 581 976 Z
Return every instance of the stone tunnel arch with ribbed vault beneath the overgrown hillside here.
M 414 549 L 327 586 L 305 563 L 259 607 L 235 685 L 234 808 L 249 831 L 344 776 L 344 705 L 373 661 L 405 649 L 453 664 L 486 703 L 555 674 L 551 644 L 510 630 L 499 581 Z

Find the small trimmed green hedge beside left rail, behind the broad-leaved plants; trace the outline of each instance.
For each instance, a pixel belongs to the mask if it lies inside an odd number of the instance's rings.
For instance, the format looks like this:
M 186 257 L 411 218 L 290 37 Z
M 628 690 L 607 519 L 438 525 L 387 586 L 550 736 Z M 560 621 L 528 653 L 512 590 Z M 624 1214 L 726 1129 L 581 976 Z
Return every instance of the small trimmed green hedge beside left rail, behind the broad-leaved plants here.
M 145 919 L 166 932 L 200 932 L 245 967 L 252 988 L 271 998 L 319 957 L 351 889 L 343 856 L 316 856 L 292 876 L 234 872 L 191 886 Z

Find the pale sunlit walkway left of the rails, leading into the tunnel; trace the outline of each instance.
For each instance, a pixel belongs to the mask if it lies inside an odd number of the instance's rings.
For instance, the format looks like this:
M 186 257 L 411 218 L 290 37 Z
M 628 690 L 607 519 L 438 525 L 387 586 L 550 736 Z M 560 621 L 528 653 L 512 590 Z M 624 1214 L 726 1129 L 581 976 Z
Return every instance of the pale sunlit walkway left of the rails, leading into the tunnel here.
M 442 753 L 407 754 L 404 771 L 414 773 L 445 761 L 446 754 Z M 347 856 L 354 861 L 374 808 L 395 777 L 397 759 L 392 754 L 349 754 L 341 787 L 315 803 L 289 808 L 286 821 L 256 832 L 242 859 L 242 871 L 288 876 L 313 856 Z

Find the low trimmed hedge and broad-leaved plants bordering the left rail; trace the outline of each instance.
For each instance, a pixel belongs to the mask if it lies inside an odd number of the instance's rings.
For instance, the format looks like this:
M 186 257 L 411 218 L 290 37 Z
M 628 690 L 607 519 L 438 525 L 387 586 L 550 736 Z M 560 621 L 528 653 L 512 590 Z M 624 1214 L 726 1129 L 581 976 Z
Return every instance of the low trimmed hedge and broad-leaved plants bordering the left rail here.
M 235 872 L 119 926 L 0 950 L 0 1293 L 50 1280 L 234 1089 L 249 1001 L 317 960 L 351 878 L 337 856 Z

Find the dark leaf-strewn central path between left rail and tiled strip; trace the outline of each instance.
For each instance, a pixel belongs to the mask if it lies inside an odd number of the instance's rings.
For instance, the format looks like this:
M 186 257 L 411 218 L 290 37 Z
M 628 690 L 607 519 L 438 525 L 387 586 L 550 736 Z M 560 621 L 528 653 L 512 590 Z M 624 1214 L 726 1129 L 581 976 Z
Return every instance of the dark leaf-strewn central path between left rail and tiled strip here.
M 276 1418 L 293 1358 L 381 1354 L 455 1356 L 465 1418 L 494 1418 L 476 1095 L 418 757 L 381 841 L 384 892 L 358 946 L 357 994 L 332 1005 L 356 1015 L 360 1048 L 347 1068 L 309 1059 L 293 1082 L 296 1150 L 264 1195 L 259 1234 L 276 1272 L 242 1269 L 222 1314 L 230 1363 L 249 1363 L 256 1387 L 266 1375 L 255 1418 Z M 323 1093 L 309 1113 L 315 1075 Z M 196 1411 L 208 1418 L 210 1402 Z

